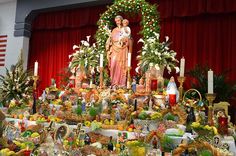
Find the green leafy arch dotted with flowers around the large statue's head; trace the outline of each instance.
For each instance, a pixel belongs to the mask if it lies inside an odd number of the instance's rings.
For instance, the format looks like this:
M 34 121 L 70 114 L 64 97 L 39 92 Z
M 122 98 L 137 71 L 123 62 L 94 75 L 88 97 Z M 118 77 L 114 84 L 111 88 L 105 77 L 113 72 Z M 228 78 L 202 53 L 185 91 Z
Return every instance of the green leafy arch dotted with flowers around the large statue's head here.
M 155 33 L 159 33 L 159 13 L 156 5 L 151 5 L 145 0 L 115 0 L 114 4 L 108 7 L 98 20 L 98 30 L 96 32 L 96 42 L 99 53 L 105 53 L 106 41 L 109 37 L 107 31 L 109 27 L 113 25 L 113 19 L 120 13 L 141 13 L 142 30 L 140 34 L 143 35 L 143 39 L 146 40 L 149 37 L 154 36 Z

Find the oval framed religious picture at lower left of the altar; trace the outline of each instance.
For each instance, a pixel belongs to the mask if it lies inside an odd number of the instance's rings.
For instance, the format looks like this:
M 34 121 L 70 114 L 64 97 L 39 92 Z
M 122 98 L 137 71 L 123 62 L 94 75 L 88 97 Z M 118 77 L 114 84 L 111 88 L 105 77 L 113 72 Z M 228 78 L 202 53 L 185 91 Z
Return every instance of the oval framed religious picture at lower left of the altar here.
M 55 134 L 54 134 L 54 140 L 65 139 L 69 136 L 69 134 L 70 134 L 70 129 L 68 125 L 63 124 L 56 129 Z

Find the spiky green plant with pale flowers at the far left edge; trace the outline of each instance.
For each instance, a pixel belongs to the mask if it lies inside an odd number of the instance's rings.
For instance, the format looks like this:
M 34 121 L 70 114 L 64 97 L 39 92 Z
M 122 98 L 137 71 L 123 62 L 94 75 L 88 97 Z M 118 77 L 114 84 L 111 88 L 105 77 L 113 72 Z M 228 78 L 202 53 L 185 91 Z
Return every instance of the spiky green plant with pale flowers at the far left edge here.
M 22 53 L 15 65 L 10 70 L 6 68 L 6 75 L 0 75 L 0 102 L 9 104 L 11 100 L 28 103 L 32 98 L 33 85 L 31 72 L 23 68 Z

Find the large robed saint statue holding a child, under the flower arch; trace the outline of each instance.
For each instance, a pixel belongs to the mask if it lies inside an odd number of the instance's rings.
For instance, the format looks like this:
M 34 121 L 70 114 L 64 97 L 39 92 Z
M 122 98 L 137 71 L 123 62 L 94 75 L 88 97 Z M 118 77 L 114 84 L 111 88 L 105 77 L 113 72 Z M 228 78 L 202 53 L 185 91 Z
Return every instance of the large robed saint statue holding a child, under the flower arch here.
M 116 16 L 114 28 L 106 42 L 106 51 L 108 59 L 108 67 L 110 70 L 111 85 L 124 87 L 126 86 L 127 78 L 127 59 L 129 45 L 130 45 L 130 28 L 127 26 L 127 20 L 125 20 L 125 26 L 122 24 L 123 17 Z

